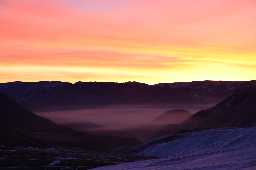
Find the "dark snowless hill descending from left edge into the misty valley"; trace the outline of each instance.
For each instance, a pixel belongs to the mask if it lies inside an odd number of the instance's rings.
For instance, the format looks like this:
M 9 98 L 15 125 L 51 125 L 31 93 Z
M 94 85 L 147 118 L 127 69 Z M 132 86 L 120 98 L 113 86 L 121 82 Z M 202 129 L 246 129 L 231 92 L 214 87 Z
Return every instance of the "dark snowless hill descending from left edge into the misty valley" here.
M 53 143 L 82 149 L 112 152 L 118 147 L 139 145 L 136 138 L 79 132 L 37 116 L 0 93 L 0 125 Z

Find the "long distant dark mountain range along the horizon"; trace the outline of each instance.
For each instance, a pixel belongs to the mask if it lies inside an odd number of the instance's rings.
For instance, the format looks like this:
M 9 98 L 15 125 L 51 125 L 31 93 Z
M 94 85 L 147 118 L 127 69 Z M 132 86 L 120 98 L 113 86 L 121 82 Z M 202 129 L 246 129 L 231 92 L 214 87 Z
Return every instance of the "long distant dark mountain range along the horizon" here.
M 0 83 L 0 92 L 34 107 L 99 107 L 119 104 L 215 105 L 256 81 L 192 81 L 147 85 L 138 82 L 59 81 Z

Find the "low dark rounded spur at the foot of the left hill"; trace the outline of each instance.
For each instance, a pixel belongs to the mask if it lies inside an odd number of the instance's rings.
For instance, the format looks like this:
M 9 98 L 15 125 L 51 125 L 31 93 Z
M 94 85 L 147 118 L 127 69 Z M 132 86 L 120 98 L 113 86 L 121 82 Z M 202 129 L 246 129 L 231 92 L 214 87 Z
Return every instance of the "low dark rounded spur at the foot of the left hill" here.
M 71 128 L 49 128 L 42 131 L 34 130 L 28 134 L 52 143 L 98 152 L 113 152 L 122 146 L 134 146 L 142 143 L 136 138 L 78 132 Z

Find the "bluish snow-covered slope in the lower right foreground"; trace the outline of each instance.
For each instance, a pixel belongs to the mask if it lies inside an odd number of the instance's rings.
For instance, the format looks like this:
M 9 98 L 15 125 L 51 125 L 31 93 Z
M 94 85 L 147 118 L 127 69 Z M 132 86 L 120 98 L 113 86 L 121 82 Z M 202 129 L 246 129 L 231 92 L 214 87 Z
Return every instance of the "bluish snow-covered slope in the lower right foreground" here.
M 137 155 L 163 158 L 97 169 L 256 169 L 255 141 L 256 127 L 223 128 L 163 136 L 137 146 Z M 135 147 L 120 148 L 119 151 L 125 149 L 129 152 Z

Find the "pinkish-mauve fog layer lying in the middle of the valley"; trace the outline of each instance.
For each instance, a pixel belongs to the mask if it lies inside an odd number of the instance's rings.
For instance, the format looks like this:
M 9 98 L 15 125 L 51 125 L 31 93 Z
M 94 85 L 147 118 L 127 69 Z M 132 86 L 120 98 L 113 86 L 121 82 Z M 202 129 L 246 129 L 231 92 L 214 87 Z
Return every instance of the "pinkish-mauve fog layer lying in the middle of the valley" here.
M 192 114 L 212 107 L 211 105 L 180 106 Z M 144 105 L 118 105 L 95 109 L 61 110 L 35 112 L 37 115 L 48 118 L 57 124 L 83 124 L 91 121 L 94 124 L 110 128 L 115 131 L 128 131 L 142 124 L 147 124 L 166 111 L 179 108 L 154 107 Z M 175 120 L 173 120 L 175 122 Z M 178 122 L 177 122 L 178 123 Z

